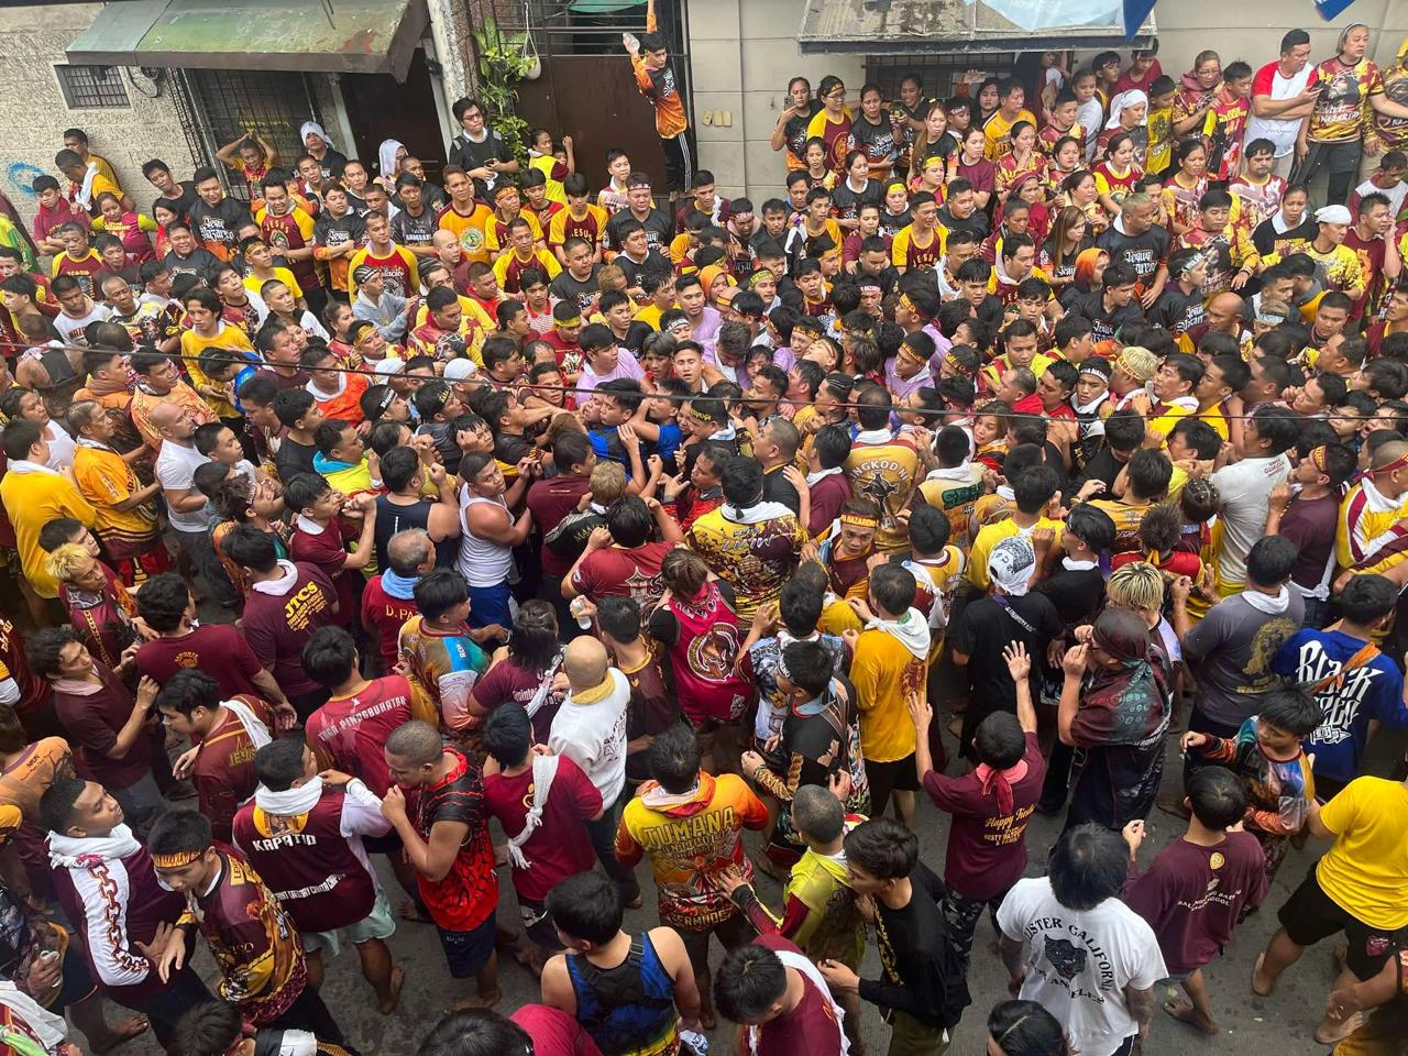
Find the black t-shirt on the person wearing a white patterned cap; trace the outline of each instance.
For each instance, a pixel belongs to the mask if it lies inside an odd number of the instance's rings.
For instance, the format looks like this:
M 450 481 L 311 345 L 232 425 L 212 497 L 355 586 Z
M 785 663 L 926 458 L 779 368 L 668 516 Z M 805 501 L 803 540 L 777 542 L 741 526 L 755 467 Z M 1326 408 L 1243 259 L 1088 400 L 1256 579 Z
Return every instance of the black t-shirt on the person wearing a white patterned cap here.
M 1066 629 L 1056 605 L 1045 594 L 984 597 L 963 607 L 949 632 L 953 648 L 969 658 L 973 686 L 969 707 L 984 715 L 994 711 L 1017 714 L 1017 683 L 1007 670 L 1002 648 L 1022 642 L 1028 656 L 1045 656 L 1046 645 Z

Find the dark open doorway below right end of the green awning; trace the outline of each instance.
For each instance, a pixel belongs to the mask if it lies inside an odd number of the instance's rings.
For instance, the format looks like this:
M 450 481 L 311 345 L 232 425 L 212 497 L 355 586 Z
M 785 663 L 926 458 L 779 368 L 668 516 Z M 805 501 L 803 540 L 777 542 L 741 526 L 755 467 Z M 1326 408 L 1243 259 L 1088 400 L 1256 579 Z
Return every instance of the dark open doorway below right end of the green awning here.
M 445 132 L 435 108 L 435 89 L 424 48 L 417 48 L 411 56 L 404 82 L 390 73 L 344 73 L 342 101 L 358 158 L 373 175 L 382 141 L 400 139 L 407 152 L 425 165 L 427 177 L 441 182 Z

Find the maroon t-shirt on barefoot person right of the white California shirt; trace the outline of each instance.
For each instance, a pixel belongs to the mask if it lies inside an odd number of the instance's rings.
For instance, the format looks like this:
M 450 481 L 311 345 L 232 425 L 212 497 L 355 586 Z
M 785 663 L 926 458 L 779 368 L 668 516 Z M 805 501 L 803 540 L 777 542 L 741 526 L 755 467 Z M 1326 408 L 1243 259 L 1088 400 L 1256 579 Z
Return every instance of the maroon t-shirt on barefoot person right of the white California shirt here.
M 1250 832 L 1212 848 L 1176 839 L 1125 888 L 1125 903 L 1159 936 L 1169 974 L 1202 967 L 1232 938 L 1242 907 L 1266 895 L 1266 859 Z

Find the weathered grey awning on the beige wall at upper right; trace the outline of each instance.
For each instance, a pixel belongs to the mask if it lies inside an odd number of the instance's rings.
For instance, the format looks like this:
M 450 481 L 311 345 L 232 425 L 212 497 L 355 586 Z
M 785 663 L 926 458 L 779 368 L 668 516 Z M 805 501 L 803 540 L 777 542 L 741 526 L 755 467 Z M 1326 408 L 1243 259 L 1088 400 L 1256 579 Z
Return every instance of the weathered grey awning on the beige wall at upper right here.
M 1121 0 L 807 0 L 797 45 L 804 55 L 934 55 L 1148 44 L 1153 15 L 1126 34 L 1121 14 Z

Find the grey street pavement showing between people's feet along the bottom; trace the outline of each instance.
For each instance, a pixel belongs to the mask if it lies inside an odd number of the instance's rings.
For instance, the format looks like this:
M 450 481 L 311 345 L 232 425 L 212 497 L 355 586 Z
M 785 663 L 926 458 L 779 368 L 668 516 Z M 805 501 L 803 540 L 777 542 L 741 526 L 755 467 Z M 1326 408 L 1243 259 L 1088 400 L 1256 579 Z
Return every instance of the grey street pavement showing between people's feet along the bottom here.
M 943 721 L 943 718 L 941 712 L 936 721 Z M 948 745 L 952 755 L 952 738 L 948 738 Z M 1169 746 L 1164 787 L 1177 787 L 1177 783 L 1181 780 L 1181 766 L 1176 736 L 1170 736 Z M 1380 738 L 1371 746 L 1369 772 L 1378 774 L 1390 773 L 1391 759 L 1398 750 L 1401 750 L 1400 739 Z M 957 772 L 956 767 L 959 766 L 960 763 L 950 762 L 950 772 Z M 1060 832 L 1062 822 L 1063 819 L 1059 817 L 1045 818 L 1039 814 L 1033 815 L 1031 826 L 1026 831 L 1026 845 L 1031 855 L 1031 863 L 1026 870 L 1028 876 L 1039 876 L 1042 873 L 1042 862 L 1056 835 Z M 917 831 L 919 832 L 924 860 L 942 876 L 948 817 L 936 811 L 922 797 L 917 818 Z M 1140 865 L 1152 862 L 1157 850 L 1176 839 L 1181 832 L 1183 824 L 1180 821 L 1155 812 L 1149 818 L 1149 835 L 1140 850 Z M 503 836 L 497 832 L 496 826 L 496 842 L 501 842 L 501 839 Z M 758 850 L 759 842 L 756 834 L 748 834 L 748 846 L 750 850 Z M 1264 908 L 1247 919 L 1236 934 L 1225 956 L 1205 970 L 1212 991 L 1214 1010 L 1222 1032 L 1217 1038 L 1205 1038 L 1171 1019 L 1163 1011 L 1156 1011 L 1149 1045 L 1145 1049 L 1146 1053 L 1152 1056 L 1184 1056 L 1187 1053 L 1204 1052 L 1245 1053 L 1247 1043 L 1257 1045 L 1263 1052 L 1277 1053 L 1314 1052 L 1319 1048 L 1311 1038 L 1311 1031 L 1319 1021 L 1325 997 L 1329 993 L 1329 984 L 1333 980 L 1333 942 L 1325 942 L 1308 950 L 1301 962 L 1286 973 L 1277 993 L 1270 998 L 1255 997 L 1249 980 L 1256 955 L 1262 952 L 1267 938 L 1276 931 L 1276 911 L 1322 850 L 1322 845 L 1311 841 L 1304 850 L 1293 849 L 1287 855 Z M 380 872 L 387 891 L 393 893 L 393 901 L 398 901 L 400 888 L 396 886 L 390 870 L 386 869 L 384 860 L 380 862 Z M 645 908 L 627 914 L 627 928 L 632 932 L 650 928 L 658 922 L 655 888 L 650 883 L 649 867 L 645 863 L 638 869 L 638 876 L 645 890 Z M 774 881 L 759 874 L 756 883 L 759 893 L 770 905 L 774 908 L 781 905 L 779 886 Z M 514 901 L 507 866 L 500 869 L 500 924 L 517 928 L 518 907 Z M 397 963 L 404 966 L 407 976 L 400 1008 L 393 1015 L 382 1017 L 377 1012 L 376 1002 L 372 1000 L 372 991 L 362 980 L 356 955 L 351 949 L 344 949 L 341 957 L 329 962 L 324 983 L 324 1000 L 339 1019 L 348 1039 L 362 1053 L 413 1056 L 421 1039 L 438 1021 L 442 1010 L 452 1004 L 462 993 L 467 991 L 453 988 L 458 984 L 452 983 L 445 970 L 439 942 L 429 925 L 403 921 L 396 935 L 390 939 L 390 945 Z M 984 1053 L 987 1012 L 994 1004 L 1007 997 L 1007 974 L 997 955 L 995 932 L 991 929 L 990 922 L 979 925 L 973 953 L 973 966 L 969 974 L 973 1005 L 955 1032 L 953 1045 L 949 1052 L 956 1056 L 979 1056 Z M 721 957 L 722 950 L 715 946 L 711 957 L 712 963 L 717 964 Z M 200 950 L 197 966 L 207 974 L 214 969 L 204 949 Z M 879 956 L 872 941 L 863 976 L 879 977 Z M 508 957 L 500 962 L 500 986 L 504 991 L 504 998 L 498 1004 L 498 1011 L 505 1014 L 538 997 L 536 980 Z M 876 1056 L 883 1053 L 888 1041 L 888 1028 L 880 1021 L 876 1008 L 865 1007 L 862 1010 L 862 1021 L 867 1049 Z M 728 1052 L 732 1042 L 732 1025 L 721 1021 L 718 1029 L 711 1035 L 711 1042 L 717 1056 Z M 124 1046 L 121 1053 L 124 1056 L 159 1056 L 161 1049 L 148 1036 Z

